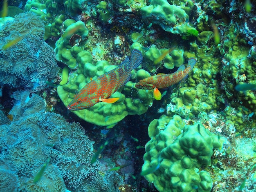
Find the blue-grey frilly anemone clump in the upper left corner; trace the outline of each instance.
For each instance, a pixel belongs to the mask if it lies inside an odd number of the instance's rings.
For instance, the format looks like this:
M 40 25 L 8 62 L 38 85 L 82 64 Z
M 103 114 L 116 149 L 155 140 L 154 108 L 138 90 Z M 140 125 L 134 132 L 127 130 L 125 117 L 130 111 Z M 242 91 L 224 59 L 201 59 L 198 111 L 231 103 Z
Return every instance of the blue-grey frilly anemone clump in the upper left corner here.
M 44 24 L 34 13 L 21 13 L 0 29 L 0 82 L 11 87 L 23 87 L 32 92 L 54 78 L 58 66 L 53 49 L 43 40 Z M 15 45 L 3 49 L 8 42 L 21 38 Z

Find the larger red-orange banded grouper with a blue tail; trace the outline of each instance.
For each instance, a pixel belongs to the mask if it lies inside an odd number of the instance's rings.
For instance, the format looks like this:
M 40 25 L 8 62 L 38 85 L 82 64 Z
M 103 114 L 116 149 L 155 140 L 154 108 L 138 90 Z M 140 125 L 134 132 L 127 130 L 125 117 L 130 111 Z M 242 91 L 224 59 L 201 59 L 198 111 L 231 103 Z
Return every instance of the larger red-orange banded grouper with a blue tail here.
M 142 59 L 141 52 L 133 49 L 130 59 L 126 57 L 118 67 L 87 83 L 67 105 L 67 109 L 87 109 L 100 101 L 115 103 L 119 98 L 109 97 L 130 80 L 132 69 L 139 67 Z

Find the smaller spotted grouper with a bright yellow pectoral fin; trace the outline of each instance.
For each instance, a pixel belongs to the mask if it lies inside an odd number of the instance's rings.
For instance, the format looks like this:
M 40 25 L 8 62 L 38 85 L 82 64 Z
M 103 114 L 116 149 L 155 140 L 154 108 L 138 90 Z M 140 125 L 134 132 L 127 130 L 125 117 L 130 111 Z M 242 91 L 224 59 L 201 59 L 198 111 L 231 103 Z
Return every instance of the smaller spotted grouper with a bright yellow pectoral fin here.
M 158 89 L 169 87 L 185 79 L 188 76 L 189 71 L 195 66 L 196 62 L 195 58 L 189 58 L 186 69 L 184 65 L 181 65 L 177 71 L 172 74 L 155 75 L 139 80 L 135 87 L 139 89 L 154 89 L 154 98 L 160 100 L 162 95 Z

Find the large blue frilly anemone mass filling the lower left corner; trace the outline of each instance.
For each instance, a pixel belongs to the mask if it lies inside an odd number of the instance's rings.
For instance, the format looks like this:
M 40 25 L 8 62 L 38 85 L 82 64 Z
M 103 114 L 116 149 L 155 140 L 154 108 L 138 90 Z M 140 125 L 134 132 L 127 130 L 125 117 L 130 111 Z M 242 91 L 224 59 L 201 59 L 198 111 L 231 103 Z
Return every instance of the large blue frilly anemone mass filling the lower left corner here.
M 79 123 L 67 123 L 63 116 L 45 112 L 45 102 L 36 94 L 29 97 L 29 92 L 15 92 L 14 97 L 24 113 L 13 107 L 13 121 L 0 125 L 1 190 L 65 191 L 67 185 L 84 191 L 88 184 L 102 181 L 103 188 L 117 190 L 120 176 L 113 172 L 102 176 L 99 161 L 90 163 L 93 142 Z M 39 181 L 34 182 L 47 159 L 49 164 Z M 9 179 L 3 180 L 7 175 Z M 101 191 L 105 191 L 103 188 Z

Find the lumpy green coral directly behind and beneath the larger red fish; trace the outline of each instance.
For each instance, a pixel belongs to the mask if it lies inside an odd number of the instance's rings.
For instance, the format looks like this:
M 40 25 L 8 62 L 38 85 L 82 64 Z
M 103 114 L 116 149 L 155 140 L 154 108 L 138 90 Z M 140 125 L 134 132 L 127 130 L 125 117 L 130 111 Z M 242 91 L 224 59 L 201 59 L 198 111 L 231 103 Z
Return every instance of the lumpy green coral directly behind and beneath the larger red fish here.
M 110 65 L 106 60 L 98 61 L 96 64 L 91 62 L 79 63 L 77 71 L 70 74 L 68 83 L 58 86 L 58 96 L 67 106 L 74 94 L 82 89 L 86 83 L 90 82 L 91 78 L 97 78 L 115 67 L 115 65 Z M 135 75 L 135 78 L 140 79 L 148 76 L 149 74 L 142 70 L 139 71 L 138 77 Z M 100 102 L 89 109 L 73 112 L 85 121 L 107 126 L 121 121 L 127 115 L 143 114 L 147 111 L 148 106 L 152 105 L 153 91 L 137 89 L 132 81 L 128 81 L 124 88 L 119 91 L 111 96 L 119 98 L 115 103 Z

